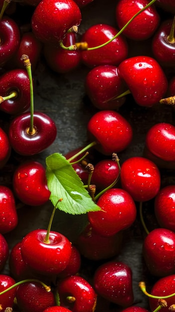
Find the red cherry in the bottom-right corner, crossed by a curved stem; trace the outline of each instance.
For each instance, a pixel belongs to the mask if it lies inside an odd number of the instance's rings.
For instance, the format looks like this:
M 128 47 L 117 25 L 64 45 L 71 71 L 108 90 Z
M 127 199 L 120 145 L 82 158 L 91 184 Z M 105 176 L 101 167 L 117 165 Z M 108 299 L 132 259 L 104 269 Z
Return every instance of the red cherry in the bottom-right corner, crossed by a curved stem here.
M 153 286 L 151 294 L 154 296 L 168 296 L 175 293 L 175 274 L 159 279 Z M 175 304 L 175 297 L 167 298 L 167 307 L 164 307 L 165 312 L 169 312 L 169 307 Z M 158 299 L 149 298 L 151 311 L 158 307 Z

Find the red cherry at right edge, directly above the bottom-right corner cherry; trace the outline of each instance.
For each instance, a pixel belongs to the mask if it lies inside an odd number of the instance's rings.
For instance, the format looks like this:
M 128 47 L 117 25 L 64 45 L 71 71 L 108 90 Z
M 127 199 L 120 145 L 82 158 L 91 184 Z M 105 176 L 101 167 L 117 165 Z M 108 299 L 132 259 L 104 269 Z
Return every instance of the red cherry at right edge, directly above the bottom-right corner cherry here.
M 152 275 L 175 274 L 175 232 L 164 228 L 151 231 L 144 240 L 143 256 Z

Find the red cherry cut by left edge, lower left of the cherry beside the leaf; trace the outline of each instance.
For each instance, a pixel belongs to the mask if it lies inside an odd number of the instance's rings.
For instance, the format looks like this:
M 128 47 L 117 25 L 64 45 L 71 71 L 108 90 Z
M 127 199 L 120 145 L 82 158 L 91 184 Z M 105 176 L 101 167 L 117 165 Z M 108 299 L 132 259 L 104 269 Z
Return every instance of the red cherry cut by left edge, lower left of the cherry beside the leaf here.
M 5 234 L 12 231 L 17 223 L 18 216 L 12 191 L 0 185 L 0 233 Z

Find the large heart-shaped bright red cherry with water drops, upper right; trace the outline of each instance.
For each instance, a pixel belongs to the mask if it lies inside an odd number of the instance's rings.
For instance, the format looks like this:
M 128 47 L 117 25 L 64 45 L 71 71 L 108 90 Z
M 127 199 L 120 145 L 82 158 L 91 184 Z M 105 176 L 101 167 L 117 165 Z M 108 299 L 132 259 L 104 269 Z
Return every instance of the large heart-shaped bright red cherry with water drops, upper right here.
M 118 70 L 138 105 L 152 107 L 164 97 L 167 78 L 154 58 L 133 56 L 120 63 Z

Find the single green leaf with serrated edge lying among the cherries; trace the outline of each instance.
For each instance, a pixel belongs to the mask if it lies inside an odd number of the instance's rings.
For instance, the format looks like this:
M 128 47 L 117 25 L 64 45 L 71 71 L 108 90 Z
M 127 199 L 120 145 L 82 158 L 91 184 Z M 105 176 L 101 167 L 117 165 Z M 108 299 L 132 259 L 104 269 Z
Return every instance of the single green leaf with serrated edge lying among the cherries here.
M 100 210 L 84 188 L 83 182 L 70 162 L 61 154 L 55 153 L 46 157 L 46 177 L 50 200 L 57 208 L 70 214 L 82 214 Z

